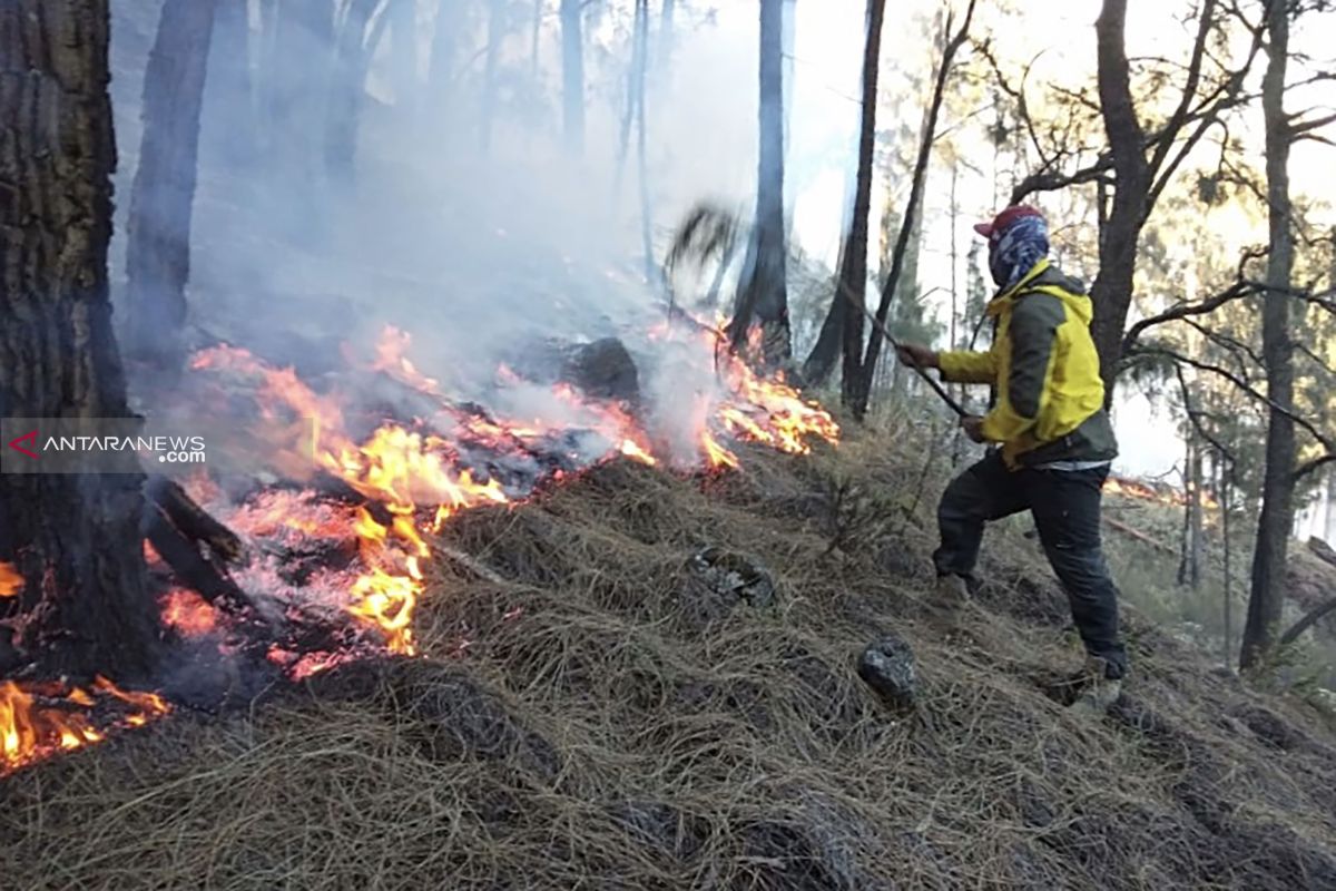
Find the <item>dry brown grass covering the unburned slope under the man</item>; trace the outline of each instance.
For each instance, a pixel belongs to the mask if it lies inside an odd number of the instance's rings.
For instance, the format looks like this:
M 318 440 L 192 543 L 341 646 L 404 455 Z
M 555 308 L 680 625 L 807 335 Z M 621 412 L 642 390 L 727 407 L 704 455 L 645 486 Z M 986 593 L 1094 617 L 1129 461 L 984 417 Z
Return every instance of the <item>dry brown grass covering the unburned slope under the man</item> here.
M 1336 887 L 1328 731 L 1134 618 L 1124 703 L 1069 717 L 1079 653 L 1033 546 L 995 537 L 983 606 L 934 624 L 935 489 L 906 518 L 919 458 L 884 453 L 616 464 L 461 517 L 449 544 L 504 582 L 437 564 L 433 659 L 0 780 L 4 887 Z M 705 545 L 776 602 L 695 580 Z M 891 631 L 907 717 L 854 672 Z

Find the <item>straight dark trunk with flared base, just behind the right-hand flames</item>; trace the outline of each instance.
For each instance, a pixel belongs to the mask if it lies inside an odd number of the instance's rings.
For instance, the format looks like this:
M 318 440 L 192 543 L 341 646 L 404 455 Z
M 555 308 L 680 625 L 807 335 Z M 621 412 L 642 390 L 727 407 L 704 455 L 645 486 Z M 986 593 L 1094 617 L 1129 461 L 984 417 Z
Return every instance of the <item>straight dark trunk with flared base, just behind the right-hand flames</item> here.
M 744 273 L 732 321 L 740 347 L 752 319 L 762 326 L 763 361 L 776 367 L 792 355 L 788 331 L 788 248 L 784 243 L 783 0 L 760 3 L 760 159 L 756 170 L 756 262 Z

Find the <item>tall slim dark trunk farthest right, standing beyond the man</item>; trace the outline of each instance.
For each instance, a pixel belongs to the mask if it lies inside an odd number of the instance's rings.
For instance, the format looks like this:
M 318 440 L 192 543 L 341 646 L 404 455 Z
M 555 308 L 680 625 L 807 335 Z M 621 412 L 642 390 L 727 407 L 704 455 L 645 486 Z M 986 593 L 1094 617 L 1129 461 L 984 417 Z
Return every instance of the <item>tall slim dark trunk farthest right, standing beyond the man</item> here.
M 1263 480 L 1261 517 L 1253 550 L 1248 621 L 1244 625 L 1240 665 L 1252 668 L 1271 651 L 1285 598 L 1285 558 L 1295 525 L 1295 347 L 1289 339 L 1289 285 L 1295 264 L 1289 200 L 1289 122 L 1285 118 L 1285 69 L 1289 61 L 1289 15 L 1276 4 L 1268 16 L 1269 61 L 1263 77 L 1263 115 L 1267 122 L 1267 203 L 1271 251 L 1263 302 L 1263 361 L 1267 395 L 1273 403 L 1267 427 L 1267 473 Z

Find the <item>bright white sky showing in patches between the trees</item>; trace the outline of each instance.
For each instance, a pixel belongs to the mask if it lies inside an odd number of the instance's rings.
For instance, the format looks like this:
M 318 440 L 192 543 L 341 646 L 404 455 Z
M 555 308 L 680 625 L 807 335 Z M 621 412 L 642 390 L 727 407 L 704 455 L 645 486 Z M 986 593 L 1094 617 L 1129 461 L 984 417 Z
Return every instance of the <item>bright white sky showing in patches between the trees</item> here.
M 894 76 L 896 68 L 930 64 L 923 39 L 922 20 L 938 8 L 934 0 L 903 0 L 891 4 L 883 31 L 883 77 Z M 1031 83 L 1059 80 L 1077 83 L 1093 73 L 1094 20 L 1100 0 L 1066 0 L 1065 3 L 1027 4 L 1022 13 L 1023 27 L 1009 27 L 1007 40 L 999 53 L 1013 59 L 1034 59 Z M 756 40 L 755 3 L 733 1 L 719 4 L 717 28 L 713 35 L 700 35 L 701 51 L 713 56 L 711 41 L 732 45 L 736 52 L 737 75 L 754 83 Z M 963 3 L 957 3 L 963 9 Z M 990 15 L 989 4 L 981 3 L 978 16 Z M 1164 53 L 1181 57 L 1186 33 L 1176 23 L 1189 15 L 1194 4 L 1186 0 L 1170 3 L 1134 3 L 1128 19 L 1128 51 L 1132 56 Z M 854 162 L 858 130 L 858 94 L 862 68 L 862 40 L 864 29 L 863 0 L 799 0 L 796 4 L 795 94 L 791 132 L 791 162 L 788 186 L 795 195 L 795 236 L 811 254 L 834 263 L 839 250 L 842 207 L 846 194 L 847 170 Z M 1033 9 L 1033 15 L 1029 12 Z M 696 37 L 693 37 L 696 40 Z M 1315 16 L 1295 33 L 1304 47 L 1336 45 L 1336 15 Z M 749 48 L 749 49 L 744 49 Z M 744 75 L 743 72 L 748 72 Z M 1315 106 L 1336 108 L 1336 84 L 1311 90 L 1291 99 L 1291 108 Z M 879 127 L 894 122 L 878 122 Z M 950 122 L 943 120 L 943 126 Z M 745 131 L 743 131 L 745 134 Z M 737 139 L 740 135 L 731 135 Z M 745 138 L 749 138 L 747 134 Z M 1260 139 L 1259 134 L 1245 138 Z M 745 155 L 745 152 L 743 152 Z M 1291 170 L 1293 182 L 1309 195 L 1336 206 L 1336 178 L 1329 175 L 1336 148 L 1305 143 L 1296 148 Z M 982 170 L 989 170 L 991 152 L 971 158 Z M 749 159 L 748 159 L 749 163 Z M 982 174 L 981 170 L 981 174 Z M 744 168 L 743 176 L 751 171 Z M 926 222 L 926 246 L 921 269 L 925 291 L 950 285 L 949 254 L 951 240 L 950 220 L 943 212 L 946 187 L 943 178 L 930 183 Z M 970 240 L 977 238 L 970 230 L 975 219 L 987 218 L 993 210 L 991 174 L 970 175 L 962 171 L 958 202 L 962 218 L 955 234 L 963 256 Z M 875 196 L 874 196 L 875 199 Z M 1045 208 L 1046 202 L 1037 202 Z M 1049 210 L 1053 214 L 1051 207 Z M 1336 219 L 1333 219 L 1336 222 Z M 1089 224 L 1089 222 L 1083 222 Z M 1228 224 L 1224 222 L 1216 224 Z M 1257 240 L 1252 231 L 1233 234 L 1240 242 Z M 1264 238 L 1264 232 L 1260 234 Z M 963 262 L 963 260 L 962 260 Z M 1088 282 L 1097 270 L 1069 270 Z M 963 271 L 958 281 L 963 282 Z M 939 311 L 946 314 L 949 295 L 938 291 Z M 1177 437 L 1177 418 L 1161 403 L 1125 386 L 1116 406 L 1116 422 L 1122 448 L 1118 469 L 1137 476 L 1160 476 L 1173 470 L 1182 458 L 1182 442 Z

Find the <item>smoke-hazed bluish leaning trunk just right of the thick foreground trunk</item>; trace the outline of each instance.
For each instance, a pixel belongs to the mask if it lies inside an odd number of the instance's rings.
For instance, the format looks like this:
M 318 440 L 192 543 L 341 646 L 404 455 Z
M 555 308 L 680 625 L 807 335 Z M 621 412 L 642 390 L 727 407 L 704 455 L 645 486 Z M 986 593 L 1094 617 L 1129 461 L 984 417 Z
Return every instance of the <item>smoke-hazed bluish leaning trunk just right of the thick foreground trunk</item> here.
M 167 0 L 144 73 L 144 136 L 130 196 L 127 349 L 168 374 L 184 357 L 190 218 L 214 0 Z

